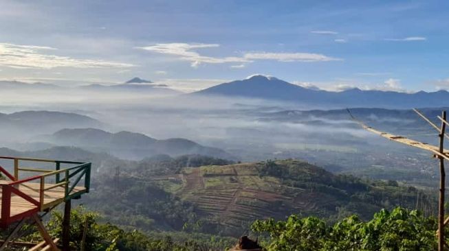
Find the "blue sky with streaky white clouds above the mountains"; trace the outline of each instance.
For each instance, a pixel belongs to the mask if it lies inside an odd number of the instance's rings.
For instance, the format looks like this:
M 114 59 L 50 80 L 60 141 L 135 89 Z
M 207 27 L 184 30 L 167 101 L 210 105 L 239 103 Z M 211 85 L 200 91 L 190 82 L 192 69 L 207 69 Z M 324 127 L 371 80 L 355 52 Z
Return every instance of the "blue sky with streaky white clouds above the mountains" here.
M 0 0 L 0 80 L 449 88 L 448 1 Z

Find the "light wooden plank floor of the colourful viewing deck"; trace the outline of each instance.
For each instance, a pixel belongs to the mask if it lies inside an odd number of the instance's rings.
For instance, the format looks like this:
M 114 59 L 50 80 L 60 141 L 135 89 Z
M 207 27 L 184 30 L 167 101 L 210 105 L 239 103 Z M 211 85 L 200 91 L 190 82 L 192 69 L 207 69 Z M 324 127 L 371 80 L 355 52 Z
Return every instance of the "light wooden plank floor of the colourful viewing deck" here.
M 8 184 L 10 181 L 8 180 L 0 180 L 1 184 Z M 44 188 L 52 187 L 54 184 L 45 184 Z M 34 200 L 40 200 L 40 189 L 41 186 L 39 183 L 34 182 L 25 182 L 22 184 L 18 184 L 16 186 L 19 191 L 29 195 Z M 85 187 L 75 187 L 74 190 L 70 194 L 78 193 L 80 191 L 86 191 Z M 22 213 L 28 211 L 45 211 L 45 209 L 55 206 L 56 204 L 60 204 L 64 201 L 65 198 L 65 188 L 64 187 L 54 187 L 44 192 L 43 196 L 43 206 L 42 208 L 38 208 L 38 206 L 32 204 L 28 200 L 24 198 L 14 195 L 11 195 L 11 217 L 16 215 L 20 215 Z M 1 189 L 0 189 L 0 208 L 1 208 Z M 1 218 L 0 218 L 1 219 Z

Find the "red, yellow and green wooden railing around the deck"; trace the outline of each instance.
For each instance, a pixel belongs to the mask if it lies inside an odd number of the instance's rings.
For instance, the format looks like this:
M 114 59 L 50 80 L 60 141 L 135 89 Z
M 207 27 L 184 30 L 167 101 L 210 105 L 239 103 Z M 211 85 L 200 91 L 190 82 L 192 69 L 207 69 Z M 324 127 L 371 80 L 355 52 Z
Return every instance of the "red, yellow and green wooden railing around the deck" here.
M 10 222 L 26 217 L 39 211 L 45 211 L 47 208 L 56 206 L 61 202 L 79 198 L 83 193 L 89 193 L 91 163 L 82 163 L 76 161 L 65 160 L 49 160 L 41 158 L 17 158 L 9 156 L 0 156 L 0 160 L 12 160 L 14 175 L 10 174 L 4 167 L 0 166 L 0 173 L 3 174 L 10 182 L 1 184 L 1 221 L 0 225 L 7 226 Z M 23 163 L 54 163 L 52 169 L 39 167 L 30 167 L 30 165 L 22 166 Z M 62 167 L 69 165 L 69 167 Z M 25 176 L 24 173 L 37 173 L 35 176 Z M 84 178 L 84 184 L 80 181 Z M 32 184 L 39 184 L 32 186 Z M 63 193 L 61 198 L 45 202 L 46 194 L 52 190 L 62 187 Z M 78 188 L 78 189 L 76 189 Z M 80 189 L 82 188 L 82 189 Z M 28 193 L 28 194 L 27 194 Z M 30 194 L 32 193 L 32 194 Z M 12 195 L 19 196 L 34 205 L 30 210 L 17 215 L 11 215 L 11 198 Z M 39 195 L 39 198 L 36 198 Z M 28 206 L 30 208 L 30 206 Z

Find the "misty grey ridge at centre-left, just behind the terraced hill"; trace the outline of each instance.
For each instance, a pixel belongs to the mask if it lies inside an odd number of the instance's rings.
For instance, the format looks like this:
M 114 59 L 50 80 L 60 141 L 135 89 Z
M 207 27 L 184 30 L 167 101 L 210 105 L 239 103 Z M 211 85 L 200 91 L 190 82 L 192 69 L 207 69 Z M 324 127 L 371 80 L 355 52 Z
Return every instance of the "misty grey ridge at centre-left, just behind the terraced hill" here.
M 63 129 L 47 137 L 58 145 L 74 145 L 87 150 L 111 152 L 120 158 L 142 159 L 157 154 L 181 156 L 200 154 L 217 158 L 234 158 L 214 147 L 199 145 L 188 139 L 153 139 L 135 132 L 111 133 L 94 128 Z

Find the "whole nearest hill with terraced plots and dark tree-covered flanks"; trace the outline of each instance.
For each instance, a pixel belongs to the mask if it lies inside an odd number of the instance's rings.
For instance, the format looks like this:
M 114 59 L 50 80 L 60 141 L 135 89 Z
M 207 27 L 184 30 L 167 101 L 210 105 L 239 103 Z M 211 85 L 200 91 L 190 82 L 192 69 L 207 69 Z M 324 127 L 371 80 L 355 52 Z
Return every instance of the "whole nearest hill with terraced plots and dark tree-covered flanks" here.
M 292 213 L 327 217 L 331 221 L 357 213 L 362 219 L 369 219 L 375 211 L 392 205 L 415 208 L 417 195 L 418 208 L 428 212 L 435 209 L 429 208 L 428 201 L 432 199 L 413 187 L 337 176 L 299 160 L 181 170 L 140 163 L 123 171 L 120 187 L 113 180 L 111 176 L 102 177 L 98 183 L 102 189 L 91 205 L 110 217 L 117 210 L 141 218 L 142 223 L 136 222 L 137 225 L 131 224 L 130 219 L 118 223 L 142 229 L 179 230 L 182 225 L 237 236 L 254 219 L 284 219 Z M 117 191 L 121 191 L 121 197 L 110 205 L 108 197 Z M 198 221 L 199 226 L 195 223 Z

